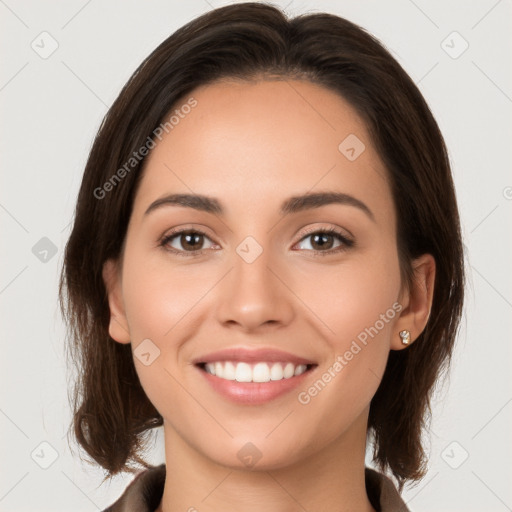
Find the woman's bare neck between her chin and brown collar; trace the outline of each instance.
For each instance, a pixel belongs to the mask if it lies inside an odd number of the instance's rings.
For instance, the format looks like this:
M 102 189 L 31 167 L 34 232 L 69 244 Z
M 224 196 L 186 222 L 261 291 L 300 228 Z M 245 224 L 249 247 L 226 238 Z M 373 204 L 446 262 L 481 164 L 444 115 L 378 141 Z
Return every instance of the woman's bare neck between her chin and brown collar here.
M 321 450 L 265 470 L 217 464 L 164 422 L 166 481 L 156 512 L 374 512 L 365 487 L 366 420 L 367 411 Z

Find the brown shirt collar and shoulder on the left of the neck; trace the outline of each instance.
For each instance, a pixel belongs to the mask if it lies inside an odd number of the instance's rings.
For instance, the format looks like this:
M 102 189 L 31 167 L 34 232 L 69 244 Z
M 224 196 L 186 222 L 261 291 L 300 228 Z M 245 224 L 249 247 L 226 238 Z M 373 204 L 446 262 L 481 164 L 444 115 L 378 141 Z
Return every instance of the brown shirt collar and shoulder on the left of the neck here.
M 119 499 L 103 512 L 154 512 L 164 492 L 165 464 L 142 470 Z

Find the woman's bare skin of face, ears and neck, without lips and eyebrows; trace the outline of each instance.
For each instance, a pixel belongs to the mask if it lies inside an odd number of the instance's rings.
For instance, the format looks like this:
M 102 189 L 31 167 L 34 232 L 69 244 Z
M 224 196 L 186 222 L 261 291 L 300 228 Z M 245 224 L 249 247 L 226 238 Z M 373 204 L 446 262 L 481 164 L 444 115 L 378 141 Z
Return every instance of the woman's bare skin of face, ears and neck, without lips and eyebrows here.
M 434 260 L 418 258 L 413 285 L 401 282 L 387 173 L 365 124 L 339 95 L 297 80 L 219 82 L 192 95 L 197 106 L 151 151 L 122 257 L 103 273 L 112 338 L 133 350 L 149 338 L 160 350 L 149 366 L 134 357 L 164 418 L 158 511 L 373 511 L 364 480 L 369 404 L 389 351 L 406 348 L 399 331 L 408 329 L 412 343 L 426 325 Z M 365 144 L 354 161 L 338 149 L 349 134 Z M 285 199 L 319 191 L 350 194 L 373 219 L 347 204 L 279 213 Z M 166 206 L 144 215 L 170 193 L 215 197 L 225 213 Z M 315 245 L 311 235 L 331 227 L 354 245 L 336 237 Z M 203 254 L 159 246 L 172 228 L 204 231 L 196 245 Z M 236 252 L 247 236 L 263 249 L 252 263 Z M 168 246 L 189 247 L 180 236 Z M 401 311 L 300 403 L 298 393 L 396 303 Z M 278 348 L 318 366 L 300 389 L 262 405 L 236 404 L 191 364 L 235 345 Z M 252 468 L 237 456 L 249 442 L 261 453 Z

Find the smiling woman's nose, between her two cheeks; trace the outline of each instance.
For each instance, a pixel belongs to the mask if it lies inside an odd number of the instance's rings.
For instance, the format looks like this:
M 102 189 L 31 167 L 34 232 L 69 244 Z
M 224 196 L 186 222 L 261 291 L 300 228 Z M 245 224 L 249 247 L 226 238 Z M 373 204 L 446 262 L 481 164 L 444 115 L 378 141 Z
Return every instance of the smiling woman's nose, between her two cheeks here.
M 232 262 L 233 268 L 219 289 L 219 322 L 245 332 L 291 322 L 293 293 L 285 284 L 286 271 L 272 262 L 268 251 L 252 262 L 235 253 Z

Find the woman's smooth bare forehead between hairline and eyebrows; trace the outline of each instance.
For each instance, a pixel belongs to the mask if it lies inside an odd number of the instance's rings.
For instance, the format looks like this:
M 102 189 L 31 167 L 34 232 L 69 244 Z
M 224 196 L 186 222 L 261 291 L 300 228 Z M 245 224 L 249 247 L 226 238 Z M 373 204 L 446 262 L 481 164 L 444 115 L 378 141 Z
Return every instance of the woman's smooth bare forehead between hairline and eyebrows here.
M 191 97 L 195 106 L 181 109 Z M 315 187 L 390 207 L 386 172 L 365 123 L 324 87 L 218 82 L 192 91 L 166 119 L 173 114 L 147 157 L 134 209 L 165 193 L 195 192 L 224 197 L 228 211 L 238 203 L 256 213 L 262 201 L 277 207 L 284 196 Z

